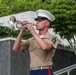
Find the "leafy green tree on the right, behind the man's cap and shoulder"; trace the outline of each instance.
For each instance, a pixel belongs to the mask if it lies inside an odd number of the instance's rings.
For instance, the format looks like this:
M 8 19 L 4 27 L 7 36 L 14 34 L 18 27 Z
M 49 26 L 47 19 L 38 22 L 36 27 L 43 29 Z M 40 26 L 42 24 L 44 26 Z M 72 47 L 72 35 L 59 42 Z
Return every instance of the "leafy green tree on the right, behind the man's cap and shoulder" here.
M 76 44 L 76 3 L 73 0 L 52 0 L 51 9 L 56 17 L 52 25 L 55 32 L 66 38 L 70 45 Z

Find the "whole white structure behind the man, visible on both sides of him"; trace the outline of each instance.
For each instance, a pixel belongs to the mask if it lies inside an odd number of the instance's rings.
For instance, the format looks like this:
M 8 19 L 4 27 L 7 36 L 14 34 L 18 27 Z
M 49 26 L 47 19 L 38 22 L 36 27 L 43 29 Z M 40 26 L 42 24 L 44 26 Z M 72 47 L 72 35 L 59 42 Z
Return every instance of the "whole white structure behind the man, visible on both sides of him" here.
M 35 23 L 34 18 L 36 17 L 36 13 L 34 11 L 27 11 L 27 12 L 23 12 L 23 13 L 19 13 L 19 14 L 13 14 L 13 15 L 9 15 L 9 16 L 0 17 L 0 26 L 8 26 L 10 28 L 14 28 L 15 27 L 14 29 L 17 29 L 16 25 L 10 25 L 9 24 L 9 20 L 10 20 L 11 16 L 15 16 L 16 20 L 18 20 L 18 21 L 26 20 L 26 21 L 29 21 L 31 23 Z M 52 28 L 49 29 L 49 32 L 51 34 L 55 34 L 53 32 Z M 58 39 L 61 41 L 60 42 L 61 44 L 69 45 L 69 43 L 68 43 L 68 41 L 66 39 L 61 39 L 59 35 L 57 35 L 57 36 L 58 36 Z

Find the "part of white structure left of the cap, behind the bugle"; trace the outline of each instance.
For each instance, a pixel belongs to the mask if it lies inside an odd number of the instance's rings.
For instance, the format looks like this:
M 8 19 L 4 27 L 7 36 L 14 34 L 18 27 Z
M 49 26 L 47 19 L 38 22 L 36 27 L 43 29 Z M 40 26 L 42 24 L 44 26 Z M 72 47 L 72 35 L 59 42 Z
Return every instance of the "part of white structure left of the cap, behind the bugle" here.
M 36 17 L 36 14 L 33 11 L 27 11 L 27 12 L 24 12 L 24 13 L 19 13 L 19 14 L 13 14 L 13 15 L 9 15 L 9 16 L 0 17 L 0 25 L 1 26 L 8 26 L 8 27 L 12 28 L 13 25 L 9 24 L 10 17 L 12 17 L 12 16 L 15 16 L 17 21 L 25 21 L 26 20 L 26 21 L 29 21 L 31 23 L 35 23 L 34 18 Z M 16 28 L 16 26 L 15 26 L 15 28 Z

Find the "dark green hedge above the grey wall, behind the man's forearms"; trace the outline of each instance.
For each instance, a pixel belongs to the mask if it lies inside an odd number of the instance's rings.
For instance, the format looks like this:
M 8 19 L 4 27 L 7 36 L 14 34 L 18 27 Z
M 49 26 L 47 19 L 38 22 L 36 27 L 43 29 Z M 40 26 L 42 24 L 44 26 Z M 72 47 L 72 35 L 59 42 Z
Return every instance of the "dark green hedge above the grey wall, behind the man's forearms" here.
M 17 38 L 20 30 L 11 30 L 10 28 L 6 26 L 0 26 L 0 38 L 6 38 L 6 37 L 14 37 Z M 32 37 L 29 31 L 25 32 L 22 39 L 28 39 Z

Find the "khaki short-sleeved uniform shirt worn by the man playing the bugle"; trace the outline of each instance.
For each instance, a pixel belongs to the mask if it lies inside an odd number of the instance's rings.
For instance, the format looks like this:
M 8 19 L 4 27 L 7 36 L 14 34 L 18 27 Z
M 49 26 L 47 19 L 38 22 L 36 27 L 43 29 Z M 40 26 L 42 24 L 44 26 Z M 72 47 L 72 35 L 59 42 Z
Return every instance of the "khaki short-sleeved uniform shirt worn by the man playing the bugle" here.
M 53 65 L 52 58 L 58 45 L 58 39 L 49 32 L 47 32 L 42 39 L 52 44 L 53 48 L 48 51 L 42 50 L 36 43 L 34 37 L 23 43 L 24 49 L 29 49 L 30 52 L 30 68 Z

